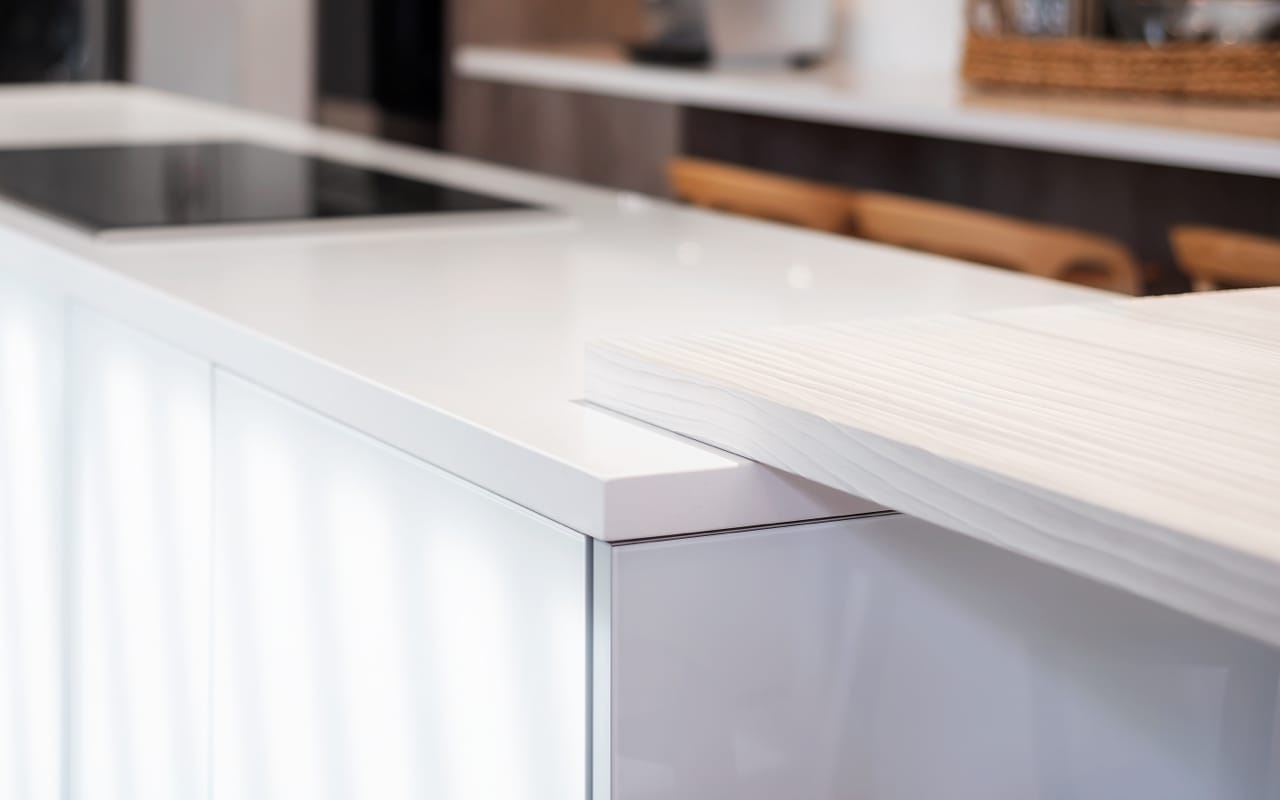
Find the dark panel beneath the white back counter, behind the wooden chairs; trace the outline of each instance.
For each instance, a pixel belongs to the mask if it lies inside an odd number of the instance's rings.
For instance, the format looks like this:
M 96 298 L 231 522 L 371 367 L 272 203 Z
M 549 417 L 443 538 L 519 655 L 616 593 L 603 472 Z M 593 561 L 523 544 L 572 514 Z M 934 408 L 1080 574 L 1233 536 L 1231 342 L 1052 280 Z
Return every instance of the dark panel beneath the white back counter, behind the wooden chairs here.
M 682 148 L 850 187 L 961 204 L 1114 236 L 1185 287 L 1169 227 L 1202 223 L 1280 236 L 1280 180 L 975 142 L 689 109 Z

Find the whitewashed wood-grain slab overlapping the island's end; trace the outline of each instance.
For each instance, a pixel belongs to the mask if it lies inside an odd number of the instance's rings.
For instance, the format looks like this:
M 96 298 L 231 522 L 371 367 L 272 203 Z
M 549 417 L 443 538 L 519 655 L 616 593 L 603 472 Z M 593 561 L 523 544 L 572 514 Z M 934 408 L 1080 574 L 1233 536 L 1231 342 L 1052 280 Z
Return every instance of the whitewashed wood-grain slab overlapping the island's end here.
M 588 398 L 1280 644 L 1280 289 L 611 342 Z

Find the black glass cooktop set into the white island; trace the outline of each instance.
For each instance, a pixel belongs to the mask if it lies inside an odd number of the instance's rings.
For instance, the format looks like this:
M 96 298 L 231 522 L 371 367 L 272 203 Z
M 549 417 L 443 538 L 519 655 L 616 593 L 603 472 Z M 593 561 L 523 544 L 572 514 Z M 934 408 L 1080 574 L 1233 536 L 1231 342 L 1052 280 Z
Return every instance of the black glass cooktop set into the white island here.
M 95 233 L 530 209 L 246 142 L 0 150 L 0 196 Z

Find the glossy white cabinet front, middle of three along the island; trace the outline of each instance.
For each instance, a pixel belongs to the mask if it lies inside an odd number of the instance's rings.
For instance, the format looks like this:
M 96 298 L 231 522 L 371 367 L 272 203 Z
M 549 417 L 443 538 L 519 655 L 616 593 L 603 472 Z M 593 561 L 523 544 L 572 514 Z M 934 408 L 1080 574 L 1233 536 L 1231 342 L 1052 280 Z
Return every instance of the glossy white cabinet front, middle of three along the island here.
M 209 364 L 74 306 L 72 796 L 207 794 Z

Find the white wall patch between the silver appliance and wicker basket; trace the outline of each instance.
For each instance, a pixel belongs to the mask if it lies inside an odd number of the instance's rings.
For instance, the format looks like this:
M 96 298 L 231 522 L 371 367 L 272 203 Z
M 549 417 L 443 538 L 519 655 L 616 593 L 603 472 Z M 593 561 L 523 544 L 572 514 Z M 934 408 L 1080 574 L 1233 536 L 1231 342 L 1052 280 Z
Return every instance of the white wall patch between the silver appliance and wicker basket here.
M 837 0 L 837 42 L 856 68 L 954 72 L 964 45 L 965 0 Z M 841 41 L 842 40 L 842 41 Z

